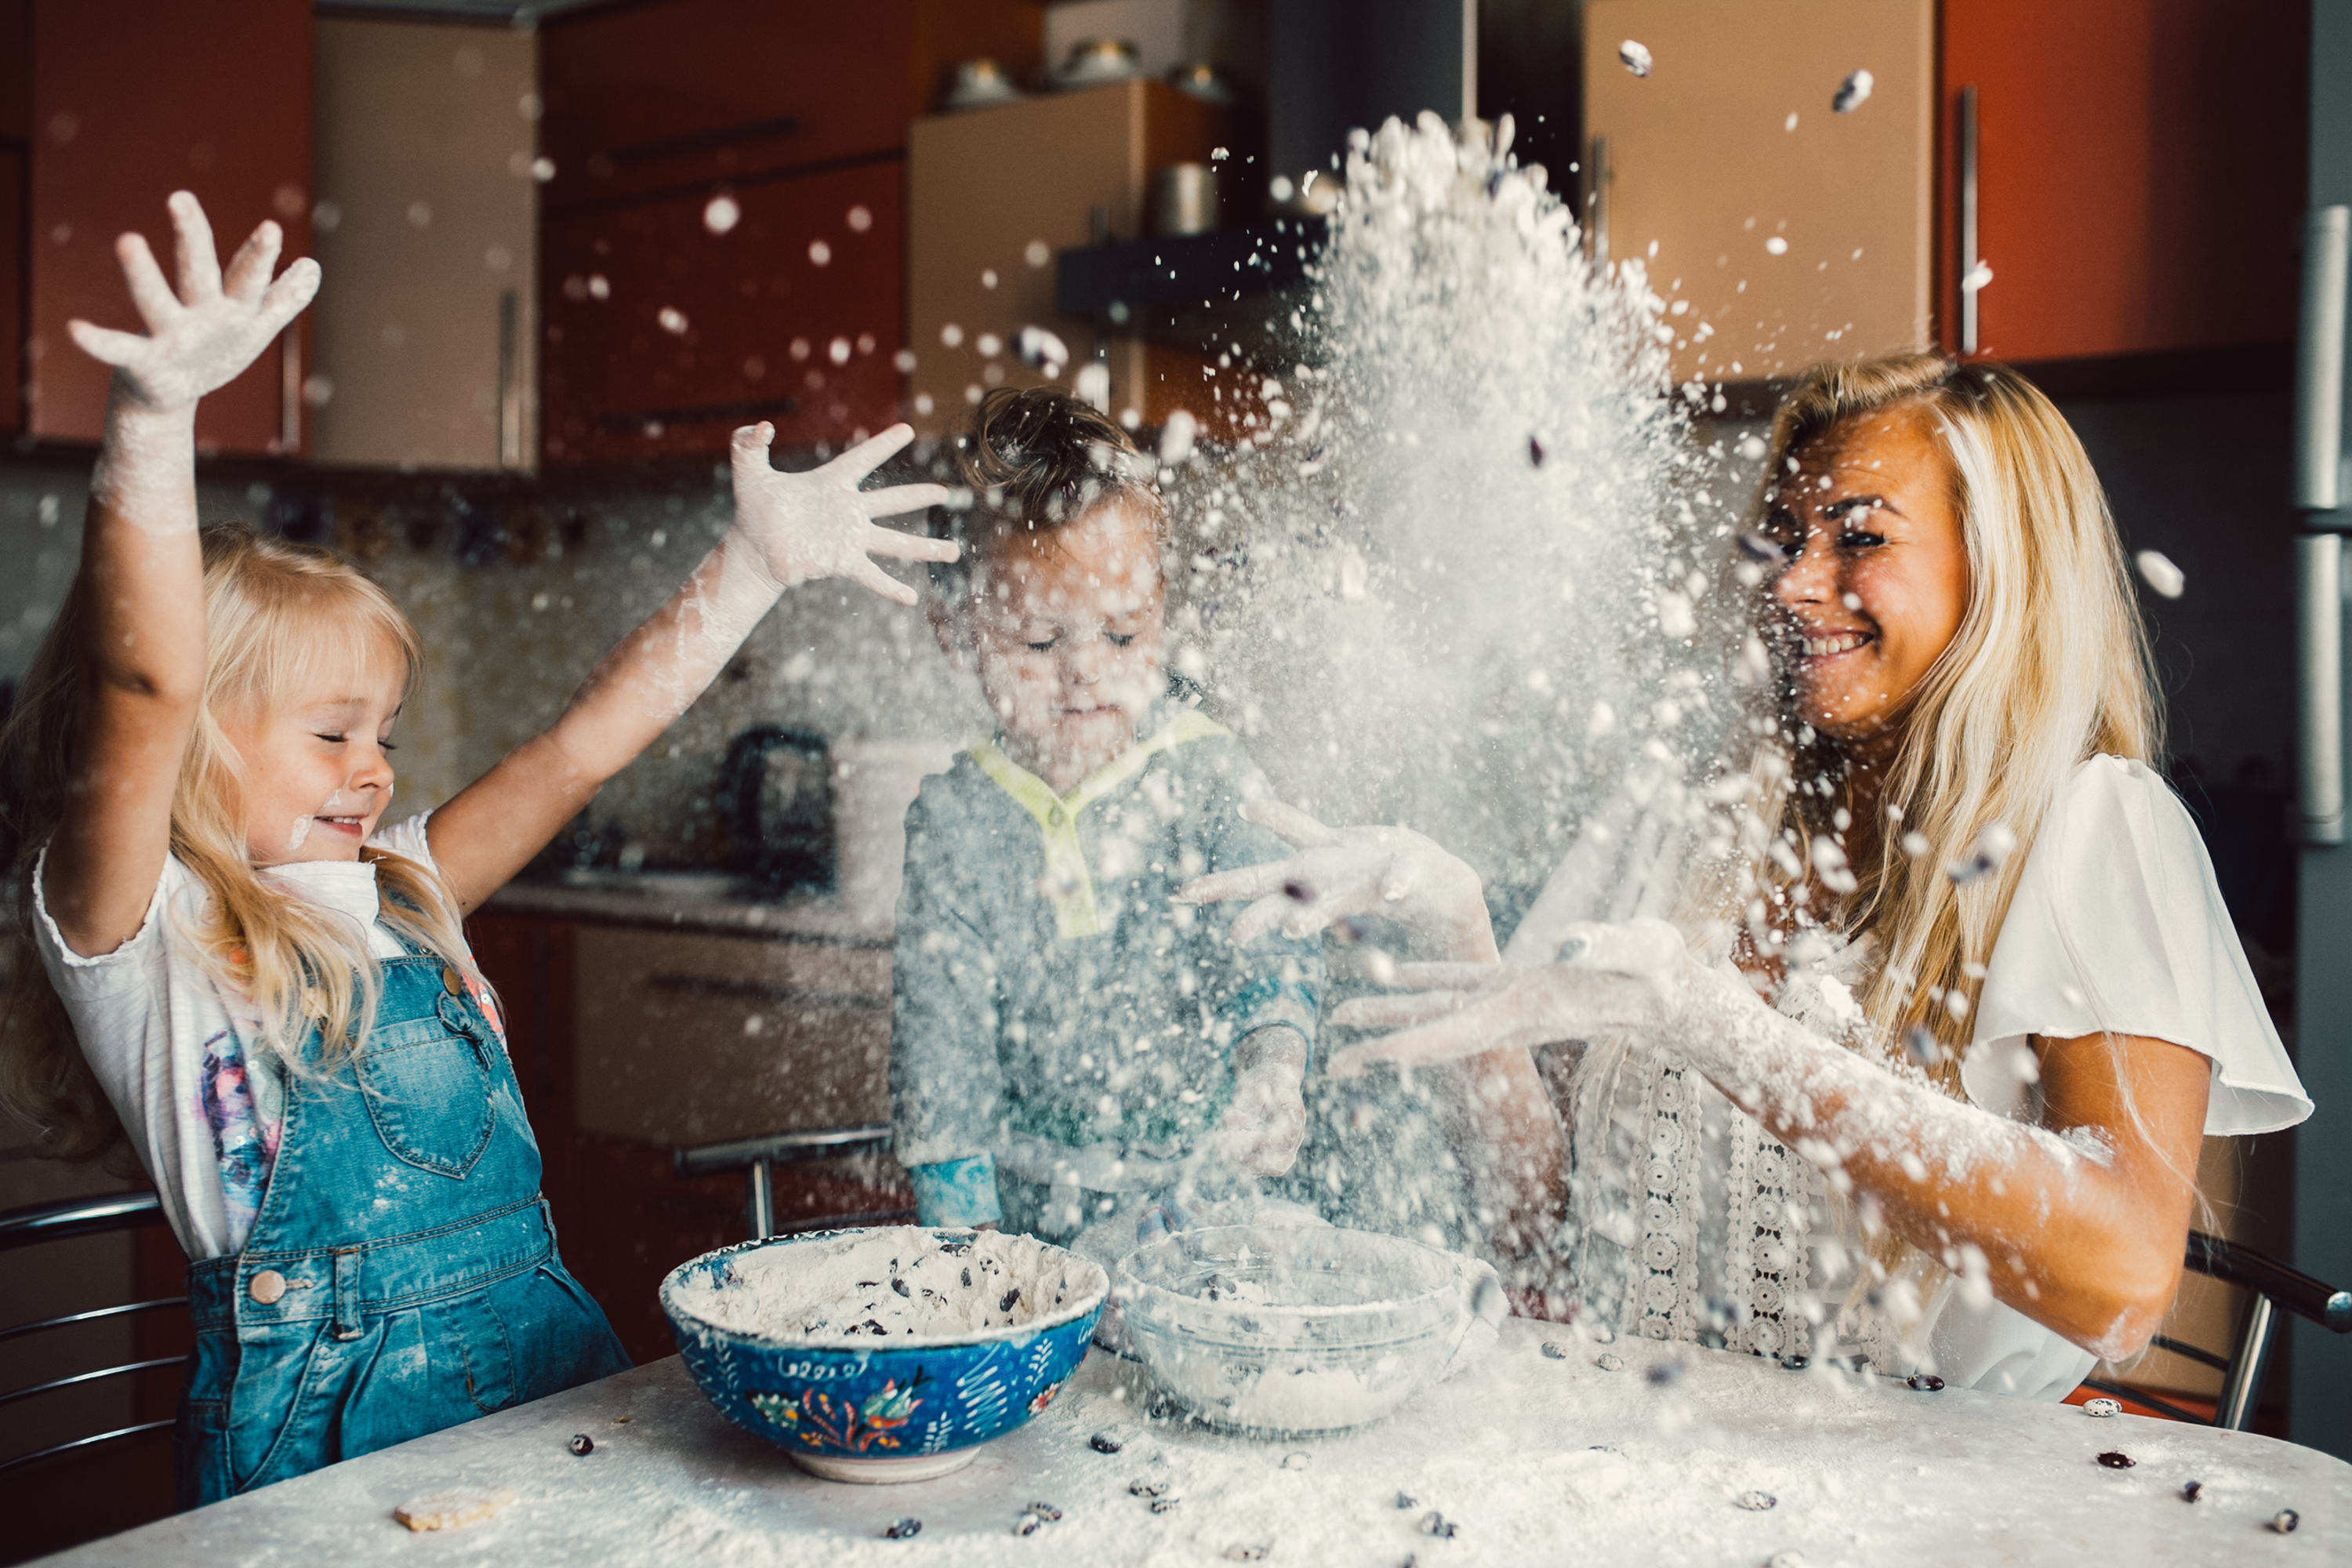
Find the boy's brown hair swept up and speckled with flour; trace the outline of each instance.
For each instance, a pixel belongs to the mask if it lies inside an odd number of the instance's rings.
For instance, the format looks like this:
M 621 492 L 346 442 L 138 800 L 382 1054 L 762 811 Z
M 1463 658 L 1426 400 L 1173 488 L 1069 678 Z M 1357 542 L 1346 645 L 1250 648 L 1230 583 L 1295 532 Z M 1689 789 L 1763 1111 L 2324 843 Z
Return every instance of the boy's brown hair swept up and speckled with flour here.
M 1167 534 L 1167 505 L 1152 489 L 1157 463 L 1115 418 L 1058 388 L 1000 386 L 983 397 L 971 430 L 955 437 L 955 470 L 969 496 L 931 508 L 931 536 L 964 548 L 931 567 L 955 595 L 1011 541 L 1065 529 L 1110 501 L 1138 508 L 1155 536 Z

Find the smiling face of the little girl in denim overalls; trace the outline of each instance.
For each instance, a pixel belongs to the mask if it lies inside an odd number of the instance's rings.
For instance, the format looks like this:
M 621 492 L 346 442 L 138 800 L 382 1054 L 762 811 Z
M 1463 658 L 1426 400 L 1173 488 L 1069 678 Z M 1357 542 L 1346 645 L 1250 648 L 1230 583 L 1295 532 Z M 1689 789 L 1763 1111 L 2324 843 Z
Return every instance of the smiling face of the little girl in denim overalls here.
M 273 708 L 221 715 L 245 759 L 245 844 L 254 865 L 358 860 L 393 802 L 393 719 L 407 696 L 395 661 L 320 675 Z

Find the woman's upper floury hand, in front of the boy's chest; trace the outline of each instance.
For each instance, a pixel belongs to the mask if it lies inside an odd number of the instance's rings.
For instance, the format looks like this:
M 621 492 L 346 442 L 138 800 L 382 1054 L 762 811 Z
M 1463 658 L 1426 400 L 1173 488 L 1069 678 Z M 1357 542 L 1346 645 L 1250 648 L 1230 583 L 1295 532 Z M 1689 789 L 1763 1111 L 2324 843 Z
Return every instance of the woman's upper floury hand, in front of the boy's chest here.
M 1268 931 L 1296 940 L 1341 919 L 1376 914 L 1404 926 L 1416 952 L 1470 964 L 1501 957 L 1477 872 L 1411 827 L 1324 827 L 1272 799 L 1249 802 L 1242 818 L 1277 832 L 1298 853 L 1176 889 L 1183 903 L 1251 900 L 1232 919 L 1237 947 Z

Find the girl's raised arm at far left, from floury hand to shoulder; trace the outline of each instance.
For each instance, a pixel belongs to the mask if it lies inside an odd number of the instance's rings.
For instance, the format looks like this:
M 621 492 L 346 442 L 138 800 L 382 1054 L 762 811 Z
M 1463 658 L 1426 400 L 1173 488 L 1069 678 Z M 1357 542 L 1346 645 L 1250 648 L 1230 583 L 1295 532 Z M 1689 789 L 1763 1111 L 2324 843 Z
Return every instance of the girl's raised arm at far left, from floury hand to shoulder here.
M 115 240 L 146 334 L 66 322 L 82 353 L 115 369 L 68 609 L 82 630 L 73 783 L 42 867 L 49 914 L 82 957 L 113 952 L 146 919 L 172 846 L 179 759 L 205 696 L 195 404 L 318 294 L 308 259 L 270 282 L 275 223 L 254 230 L 223 277 L 198 200 L 179 190 L 169 209 L 176 289 L 141 235 Z

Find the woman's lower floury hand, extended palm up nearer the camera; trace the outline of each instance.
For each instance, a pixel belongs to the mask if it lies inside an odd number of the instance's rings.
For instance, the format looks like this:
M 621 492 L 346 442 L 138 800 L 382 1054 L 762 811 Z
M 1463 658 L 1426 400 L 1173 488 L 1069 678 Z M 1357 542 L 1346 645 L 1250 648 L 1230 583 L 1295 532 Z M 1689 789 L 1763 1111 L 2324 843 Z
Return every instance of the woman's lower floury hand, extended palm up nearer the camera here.
M 1334 1051 L 1329 1072 L 1451 1063 L 1604 1030 L 1679 1037 L 1691 997 L 1708 980 L 1663 919 L 1571 926 L 1552 964 L 1399 964 L 1397 985 L 1414 994 L 1357 997 L 1331 1011 L 1336 1025 L 1395 1034 Z

